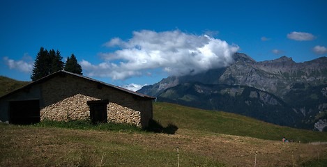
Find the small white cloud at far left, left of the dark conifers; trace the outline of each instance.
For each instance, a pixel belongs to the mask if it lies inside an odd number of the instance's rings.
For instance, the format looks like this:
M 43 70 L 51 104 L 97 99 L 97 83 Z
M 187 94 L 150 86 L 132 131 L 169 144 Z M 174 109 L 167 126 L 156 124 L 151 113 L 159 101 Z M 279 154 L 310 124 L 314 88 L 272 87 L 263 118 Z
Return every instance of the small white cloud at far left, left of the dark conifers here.
M 15 61 L 8 57 L 3 57 L 3 61 L 5 61 L 9 69 L 15 69 L 25 73 L 30 73 L 33 70 L 33 61 L 31 60 L 31 56 L 28 56 L 27 54 L 25 54 L 24 57 L 19 61 Z

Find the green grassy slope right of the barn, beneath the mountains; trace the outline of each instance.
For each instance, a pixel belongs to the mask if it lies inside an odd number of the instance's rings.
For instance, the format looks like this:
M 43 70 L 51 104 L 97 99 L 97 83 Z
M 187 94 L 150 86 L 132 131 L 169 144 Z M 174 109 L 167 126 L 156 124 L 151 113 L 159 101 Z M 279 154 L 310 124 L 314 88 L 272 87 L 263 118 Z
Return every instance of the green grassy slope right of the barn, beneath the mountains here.
M 162 102 L 153 103 L 153 112 L 154 119 L 162 125 L 171 122 L 180 129 L 197 130 L 203 133 L 250 136 L 274 141 L 281 141 L 285 136 L 289 140 L 301 141 L 301 143 L 327 141 L 326 132 L 281 127 L 234 113 L 207 111 Z

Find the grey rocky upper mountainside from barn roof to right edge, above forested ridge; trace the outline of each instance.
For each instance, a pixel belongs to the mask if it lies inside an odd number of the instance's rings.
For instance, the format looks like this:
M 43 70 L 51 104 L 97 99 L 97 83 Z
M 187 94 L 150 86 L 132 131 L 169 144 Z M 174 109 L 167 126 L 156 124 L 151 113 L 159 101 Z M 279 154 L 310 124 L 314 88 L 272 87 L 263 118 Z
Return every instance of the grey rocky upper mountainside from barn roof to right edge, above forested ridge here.
M 229 67 L 183 77 L 168 77 L 151 86 L 144 86 L 140 93 L 157 96 L 167 88 L 178 84 L 198 81 L 204 84 L 245 85 L 265 90 L 284 98 L 292 87 L 319 86 L 327 83 L 327 58 L 295 63 L 282 56 L 273 61 L 256 62 L 245 54 L 234 54 L 234 63 Z

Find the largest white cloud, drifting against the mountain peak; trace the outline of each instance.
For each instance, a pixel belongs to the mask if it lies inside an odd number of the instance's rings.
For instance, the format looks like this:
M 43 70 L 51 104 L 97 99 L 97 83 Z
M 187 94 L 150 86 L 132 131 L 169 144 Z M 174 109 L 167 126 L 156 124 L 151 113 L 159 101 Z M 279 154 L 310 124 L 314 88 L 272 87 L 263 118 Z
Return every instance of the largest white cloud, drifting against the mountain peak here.
M 112 38 L 106 47 L 119 47 L 100 53 L 105 60 L 93 65 L 83 60 L 80 64 L 90 76 L 127 79 L 150 75 L 160 69 L 170 75 L 197 74 L 233 62 L 232 54 L 239 47 L 208 35 L 193 35 L 181 31 L 134 31 L 129 40 Z

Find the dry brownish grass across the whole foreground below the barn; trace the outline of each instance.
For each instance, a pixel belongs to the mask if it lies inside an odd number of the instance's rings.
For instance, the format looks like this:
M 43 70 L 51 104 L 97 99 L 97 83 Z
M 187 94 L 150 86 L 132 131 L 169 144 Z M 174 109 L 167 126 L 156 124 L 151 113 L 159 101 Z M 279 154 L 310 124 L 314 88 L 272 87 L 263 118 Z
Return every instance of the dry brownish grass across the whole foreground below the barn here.
M 0 166 L 292 166 L 323 164 L 327 145 L 178 129 L 176 134 L 0 125 Z M 324 159 L 323 159 L 324 157 Z

